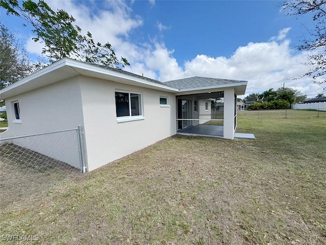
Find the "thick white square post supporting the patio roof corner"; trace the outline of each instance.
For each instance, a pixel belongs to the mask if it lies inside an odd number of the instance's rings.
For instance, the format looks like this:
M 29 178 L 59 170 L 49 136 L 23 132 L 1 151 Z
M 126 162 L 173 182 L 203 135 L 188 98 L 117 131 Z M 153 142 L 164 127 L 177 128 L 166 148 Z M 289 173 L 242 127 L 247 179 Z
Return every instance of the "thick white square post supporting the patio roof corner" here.
M 224 124 L 223 138 L 234 138 L 234 88 L 224 90 Z

